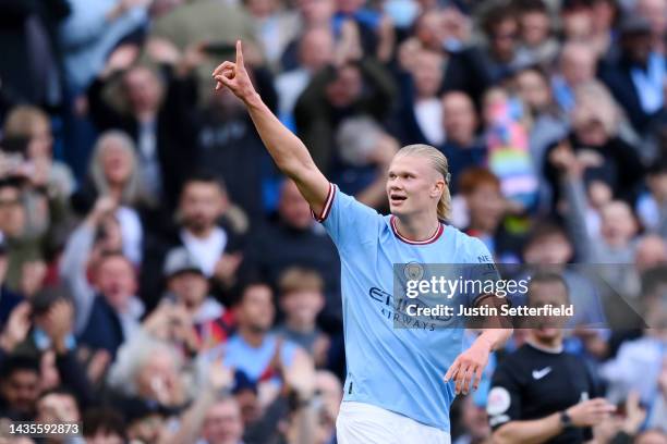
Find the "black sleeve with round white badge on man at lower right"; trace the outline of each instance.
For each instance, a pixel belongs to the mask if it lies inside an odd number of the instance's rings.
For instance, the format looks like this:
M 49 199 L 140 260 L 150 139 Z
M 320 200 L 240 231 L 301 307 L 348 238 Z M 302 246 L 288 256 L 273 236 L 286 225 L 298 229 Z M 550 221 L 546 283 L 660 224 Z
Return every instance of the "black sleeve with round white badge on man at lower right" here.
M 521 419 L 521 387 L 506 365 L 500 365 L 492 378 L 486 400 L 486 412 L 492 430 Z

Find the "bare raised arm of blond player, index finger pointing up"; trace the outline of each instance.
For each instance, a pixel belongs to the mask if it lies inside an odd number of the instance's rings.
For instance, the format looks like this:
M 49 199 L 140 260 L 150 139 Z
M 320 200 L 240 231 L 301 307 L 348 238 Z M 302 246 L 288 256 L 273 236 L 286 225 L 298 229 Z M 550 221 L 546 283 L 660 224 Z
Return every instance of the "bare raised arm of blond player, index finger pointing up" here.
M 255 91 L 243 64 L 240 40 L 237 41 L 237 62 L 223 62 L 213 75 L 218 82 L 216 90 L 227 87 L 245 103 L 262 141 L 280 171 L 296 183 L 313 211 L 320 214 L 329 194 L 329 182 L 315 165 L 305 145 L 280 123 Z

